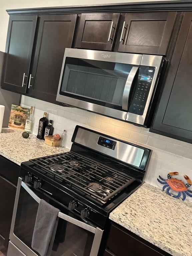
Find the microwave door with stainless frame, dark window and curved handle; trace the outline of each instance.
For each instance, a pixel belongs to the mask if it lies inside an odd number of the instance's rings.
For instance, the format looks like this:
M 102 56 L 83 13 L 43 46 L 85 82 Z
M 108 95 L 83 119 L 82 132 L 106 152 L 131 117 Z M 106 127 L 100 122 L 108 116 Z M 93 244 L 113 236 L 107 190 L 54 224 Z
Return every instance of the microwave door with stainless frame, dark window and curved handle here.
M 65 49 L 57 101 L 125 120 L 141 54 Z

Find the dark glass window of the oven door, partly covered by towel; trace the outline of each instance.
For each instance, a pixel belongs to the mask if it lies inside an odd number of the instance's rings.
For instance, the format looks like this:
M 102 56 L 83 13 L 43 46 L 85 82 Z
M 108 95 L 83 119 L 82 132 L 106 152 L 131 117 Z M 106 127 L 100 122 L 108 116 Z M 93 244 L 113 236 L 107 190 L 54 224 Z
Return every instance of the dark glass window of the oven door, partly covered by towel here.
M 37 191 L 35 193 L 40 198 L 59 208 L 63 213 L 68 214 L 68 210 L 61 209 L 61 206 L 56 201 Z M 39 204 L 21 186 L 14 234 L 29 248 L 31 248 L 38 206 Z M 74 217 L 71 214 L 70 216 Z M 60 218 L 51 256 L 88 256 L 91 252 L 93 239 L 93 233 Z M 35 253 L 39 255 L 37 252 Z

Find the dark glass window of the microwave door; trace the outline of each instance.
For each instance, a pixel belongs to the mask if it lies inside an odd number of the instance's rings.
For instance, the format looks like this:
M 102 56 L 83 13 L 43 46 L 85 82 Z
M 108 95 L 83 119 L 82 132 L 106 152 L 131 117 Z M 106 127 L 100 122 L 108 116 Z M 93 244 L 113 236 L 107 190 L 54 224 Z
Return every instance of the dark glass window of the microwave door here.
M 127 77 L 133 65 L 66 57 L 60 94 L 97 104 L 122 106 Z M 69 96 L 69 95 L 68 95 Z M 94 103 L 94 102 L 93 102 Z

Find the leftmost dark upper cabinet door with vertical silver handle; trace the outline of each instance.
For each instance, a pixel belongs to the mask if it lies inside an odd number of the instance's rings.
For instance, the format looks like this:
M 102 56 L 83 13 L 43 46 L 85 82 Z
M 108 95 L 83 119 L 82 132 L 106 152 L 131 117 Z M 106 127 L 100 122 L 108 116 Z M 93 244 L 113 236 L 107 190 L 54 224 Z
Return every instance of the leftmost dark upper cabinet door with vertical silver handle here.
M 36 15 L 10 16 L 3 64 L 1 87 L 26 92 Z

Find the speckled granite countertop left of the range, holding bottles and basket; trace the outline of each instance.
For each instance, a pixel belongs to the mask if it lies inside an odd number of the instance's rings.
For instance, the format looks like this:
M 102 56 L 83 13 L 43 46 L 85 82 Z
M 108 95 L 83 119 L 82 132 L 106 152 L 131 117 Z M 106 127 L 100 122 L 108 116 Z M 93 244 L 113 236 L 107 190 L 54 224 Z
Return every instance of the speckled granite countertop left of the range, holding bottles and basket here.
M 23 130 L 12 128 L 3 128 L 0 133 L 0 155 L 18 165 L 32 158 L 69 151 L 68 148 L 46 145 L 44 140 L 37 139 L 34 134 L 24 139 L 22 133 Z

